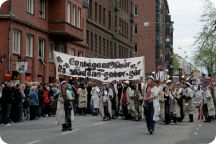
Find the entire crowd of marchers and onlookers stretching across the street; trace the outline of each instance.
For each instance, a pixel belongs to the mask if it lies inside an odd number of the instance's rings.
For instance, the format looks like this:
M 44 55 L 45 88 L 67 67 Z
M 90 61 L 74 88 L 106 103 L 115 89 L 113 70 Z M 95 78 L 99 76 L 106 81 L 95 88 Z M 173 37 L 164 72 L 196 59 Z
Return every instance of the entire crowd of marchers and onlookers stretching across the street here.
M 196 101 L 194 99 L 198 99 Z M 146 119 L 150 134 L 156 121 L 177 124 L 186 116 L 214 121 L 216 112 L 216 84 L 209 81 L 202 85 L 189 82 L 159 81 L 149 76 L 142 81 L 96 80 L 61 81 L 55 84 L 26 83 L 12 85 L 4 82 L 0 87 L 0 123 L 35 120 L 56 116 L 62 130 L 72 130 L 73 115 L 100 115 L 109 121 L 122 117 L 126 120 Z

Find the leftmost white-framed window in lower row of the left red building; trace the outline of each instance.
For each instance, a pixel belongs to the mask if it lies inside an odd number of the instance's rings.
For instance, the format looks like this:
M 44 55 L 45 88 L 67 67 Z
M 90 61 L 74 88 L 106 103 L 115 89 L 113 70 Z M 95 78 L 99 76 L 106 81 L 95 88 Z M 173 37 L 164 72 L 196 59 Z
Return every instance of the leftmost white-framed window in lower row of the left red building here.
M 20 43 L 21 42 L 21 32 L 19 30 L 13 31 L 13 53 L 20 54 Z

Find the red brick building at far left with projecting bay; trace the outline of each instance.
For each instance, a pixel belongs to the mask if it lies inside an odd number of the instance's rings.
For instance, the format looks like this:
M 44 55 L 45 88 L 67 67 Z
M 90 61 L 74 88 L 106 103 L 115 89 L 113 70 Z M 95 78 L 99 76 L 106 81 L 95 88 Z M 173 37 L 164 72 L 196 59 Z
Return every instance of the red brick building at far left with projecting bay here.
M 8 0 L 0 7 L 0 82 L 5 70 L 12 79 L 51 82 L 53 51 L 84 56 L 86 12 L 81 0 Z M 28 62 L 25 74 L 16 62 Z

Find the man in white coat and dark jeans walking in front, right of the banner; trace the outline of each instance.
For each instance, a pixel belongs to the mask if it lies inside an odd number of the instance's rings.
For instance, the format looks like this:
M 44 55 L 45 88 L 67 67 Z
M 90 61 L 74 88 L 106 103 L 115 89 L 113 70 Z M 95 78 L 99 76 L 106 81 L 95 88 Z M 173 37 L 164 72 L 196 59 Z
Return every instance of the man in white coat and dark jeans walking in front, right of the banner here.
M 159 108 L 156 109 L 156 103 L 159 105 L 158 88 L 155 86 L 154 77 L 147 78 L 146 93 L 144 96 L 144 112 L 147 128 L 150 134 L 154 133 L 155 121 L 159 119 Z M 158 117 L 157 117 L 158 114 Z

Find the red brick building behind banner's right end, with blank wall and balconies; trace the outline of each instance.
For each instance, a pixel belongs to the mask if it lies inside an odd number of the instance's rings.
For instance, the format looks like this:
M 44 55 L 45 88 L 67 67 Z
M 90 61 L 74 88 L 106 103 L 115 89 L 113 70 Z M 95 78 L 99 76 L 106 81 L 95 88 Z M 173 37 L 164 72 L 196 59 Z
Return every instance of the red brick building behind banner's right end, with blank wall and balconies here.
M 133 1 L 134 56 L 145 56 L 146 73 L 172 69 L 173 22 L 167 0 Z

